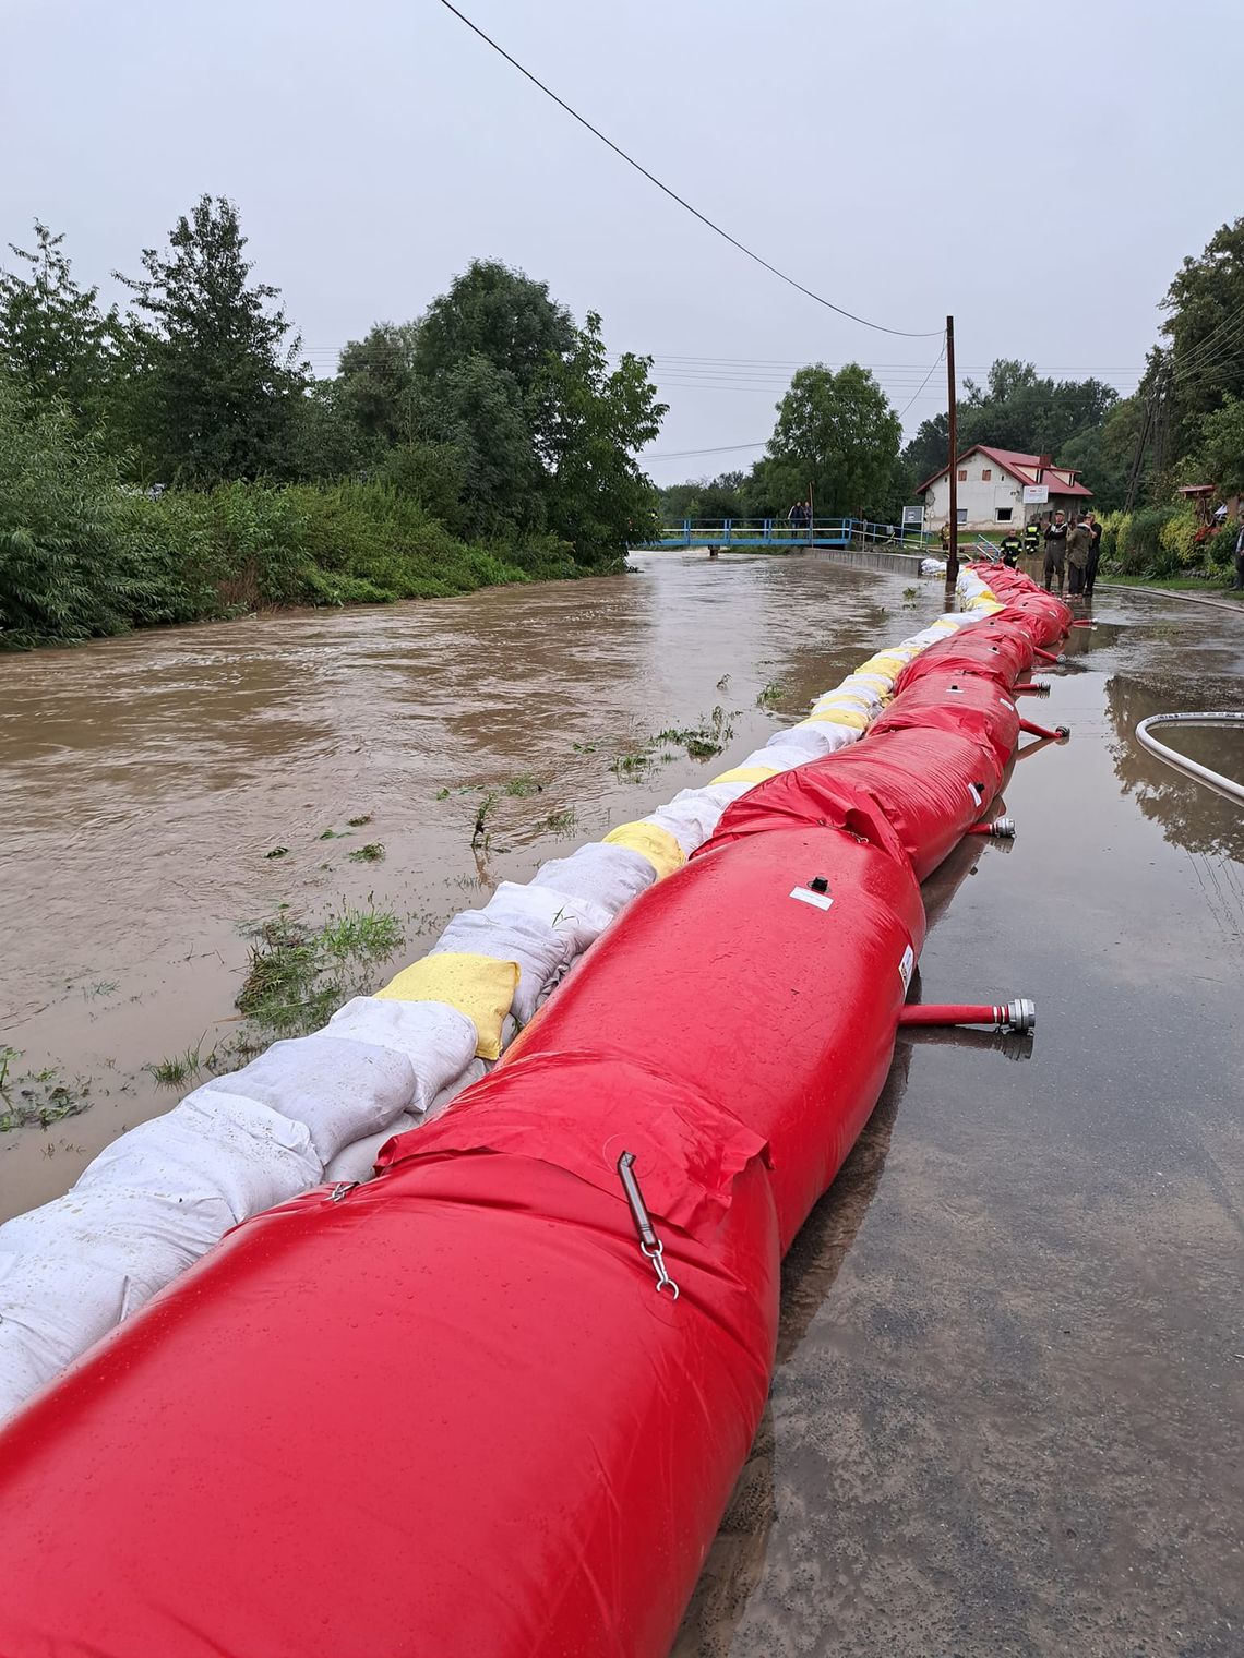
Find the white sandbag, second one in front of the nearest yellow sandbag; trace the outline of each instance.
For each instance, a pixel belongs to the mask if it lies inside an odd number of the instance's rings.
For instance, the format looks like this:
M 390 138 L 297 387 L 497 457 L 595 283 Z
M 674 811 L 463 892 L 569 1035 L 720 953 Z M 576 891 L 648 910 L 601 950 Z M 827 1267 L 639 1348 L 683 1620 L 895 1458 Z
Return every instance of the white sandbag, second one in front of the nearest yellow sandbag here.
M 305 1122 L 325 1164 L 342 1146 L 391 1122 L 415 1098 L 416 1086 L 415 1066 L 405 1053 L 330 1026 L 313 1036 L 275 1041 L 241 1071 L 214 1078 L 196 1093 L 257 1099 L 294 1122 Z

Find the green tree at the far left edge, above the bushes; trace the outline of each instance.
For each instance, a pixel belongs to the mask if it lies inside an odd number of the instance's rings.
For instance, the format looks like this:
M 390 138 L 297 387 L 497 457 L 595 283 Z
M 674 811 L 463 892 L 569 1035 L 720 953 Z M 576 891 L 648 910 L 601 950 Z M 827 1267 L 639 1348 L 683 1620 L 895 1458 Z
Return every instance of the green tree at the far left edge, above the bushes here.
M 104 410 L 116 313 L 73 280 L 63 242 L 36 219 L 33 249 L 8 244 L 25 269 L 0 269 L 0 365 L 36 406 L 60 400 L 85 431 Z

